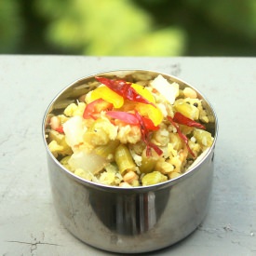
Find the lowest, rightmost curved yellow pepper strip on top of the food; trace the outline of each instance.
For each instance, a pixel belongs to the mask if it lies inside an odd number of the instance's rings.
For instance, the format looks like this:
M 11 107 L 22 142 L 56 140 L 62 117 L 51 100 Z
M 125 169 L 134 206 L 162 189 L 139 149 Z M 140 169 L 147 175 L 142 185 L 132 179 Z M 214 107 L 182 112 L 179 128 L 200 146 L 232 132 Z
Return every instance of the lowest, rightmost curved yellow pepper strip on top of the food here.
M 163 120 L 162 112 L 157 107 L 150 104 L 137 103 L 135 105 L 135 109 L 140 113 L 140 115 L 148 116 L 154 123 L 155 127 Z

